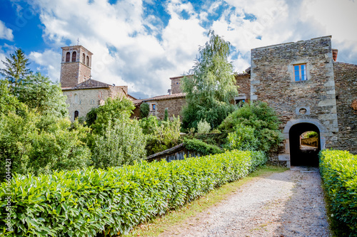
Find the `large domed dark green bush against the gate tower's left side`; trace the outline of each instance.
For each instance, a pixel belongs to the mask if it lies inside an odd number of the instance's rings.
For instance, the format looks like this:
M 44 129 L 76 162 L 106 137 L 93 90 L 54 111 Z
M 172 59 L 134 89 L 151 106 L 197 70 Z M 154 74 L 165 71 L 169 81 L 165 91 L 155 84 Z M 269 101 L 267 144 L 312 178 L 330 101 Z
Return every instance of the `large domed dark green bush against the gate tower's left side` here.
M 250 102 L 239 107 L 226 117 L 219 128 L 226 132 L 234 132 L 237 125 L 254 129 L 254 137 L 258 139 L 258 150 L 269 152 L 281 142 L 280 122 L 276 112 L 266 102 Z

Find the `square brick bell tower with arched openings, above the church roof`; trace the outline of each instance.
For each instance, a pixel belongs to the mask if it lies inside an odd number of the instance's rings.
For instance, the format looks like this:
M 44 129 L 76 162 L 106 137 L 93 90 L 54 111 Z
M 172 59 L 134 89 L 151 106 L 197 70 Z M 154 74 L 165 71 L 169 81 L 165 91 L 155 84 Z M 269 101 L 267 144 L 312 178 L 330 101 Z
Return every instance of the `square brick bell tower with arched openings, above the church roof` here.
M 83 46 L 62 47 L 61 87 L 74 87 L 91 77 L 91 53 Z

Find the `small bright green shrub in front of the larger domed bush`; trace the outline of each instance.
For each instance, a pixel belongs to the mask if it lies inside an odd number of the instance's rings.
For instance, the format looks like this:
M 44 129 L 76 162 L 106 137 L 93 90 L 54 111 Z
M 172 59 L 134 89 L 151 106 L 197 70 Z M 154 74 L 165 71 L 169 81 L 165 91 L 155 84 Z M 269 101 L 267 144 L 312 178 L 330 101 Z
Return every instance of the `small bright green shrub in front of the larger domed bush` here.
M 228 148 L 242 151 L 258 149 L 258 139 L 254 135 L 255 129 L 238 124 L 235 131 L 228 134 Z

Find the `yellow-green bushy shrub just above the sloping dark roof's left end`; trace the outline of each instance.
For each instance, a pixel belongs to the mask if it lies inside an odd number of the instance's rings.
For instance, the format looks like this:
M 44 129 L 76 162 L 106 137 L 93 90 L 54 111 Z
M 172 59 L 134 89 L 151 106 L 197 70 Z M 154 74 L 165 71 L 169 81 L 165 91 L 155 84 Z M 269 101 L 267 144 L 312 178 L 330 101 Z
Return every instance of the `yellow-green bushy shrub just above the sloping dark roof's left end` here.
M 140 120 L 140 127 L 146 134 L 146 151 L 148 155 L 162 152 L 178 144 L 181 122 L 179 117 L 174 120 L 158 120 L 155 116 Z

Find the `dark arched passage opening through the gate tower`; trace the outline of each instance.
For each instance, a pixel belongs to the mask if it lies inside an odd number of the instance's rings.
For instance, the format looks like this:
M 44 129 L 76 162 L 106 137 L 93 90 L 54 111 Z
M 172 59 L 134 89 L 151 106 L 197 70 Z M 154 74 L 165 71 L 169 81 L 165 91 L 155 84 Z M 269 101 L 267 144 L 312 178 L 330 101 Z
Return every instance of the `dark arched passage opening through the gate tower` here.
M 301 135 L 304 132 L 318 134 L 317 147 L 301 144 Z M 311 123 L 298 123 L 289 130 L 290 162 L 293 166 L 318 166 L 318 152 L 321 150 L 320 130 Z

